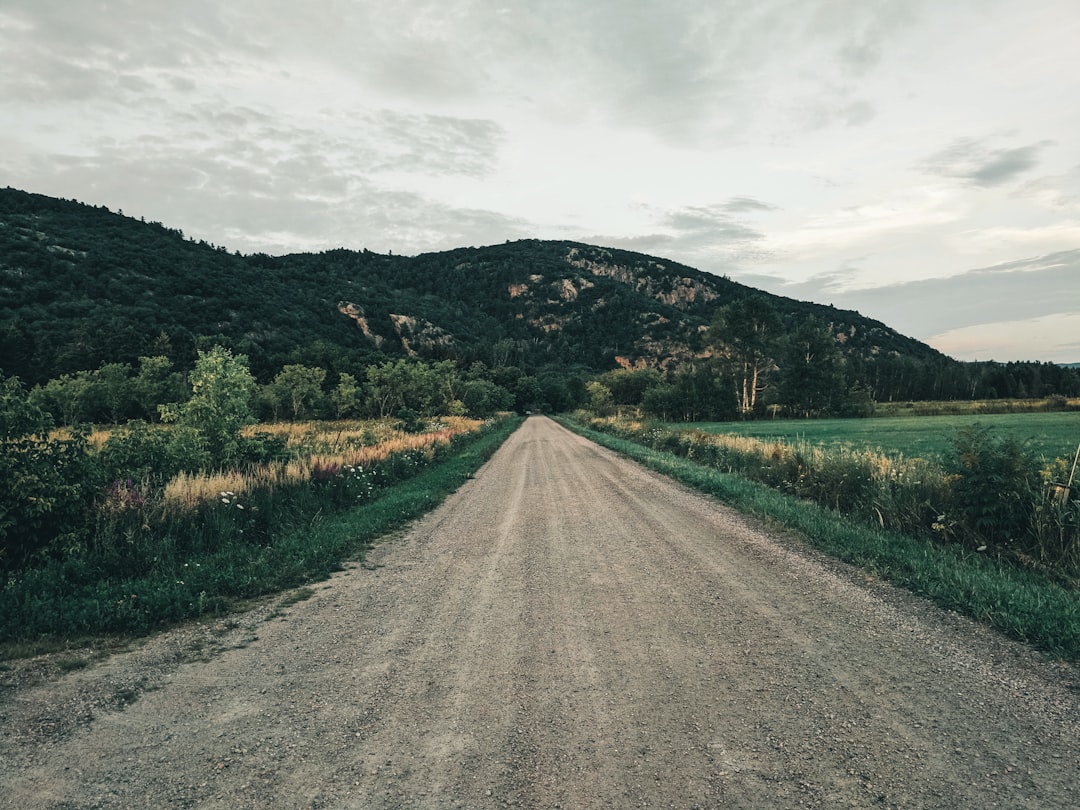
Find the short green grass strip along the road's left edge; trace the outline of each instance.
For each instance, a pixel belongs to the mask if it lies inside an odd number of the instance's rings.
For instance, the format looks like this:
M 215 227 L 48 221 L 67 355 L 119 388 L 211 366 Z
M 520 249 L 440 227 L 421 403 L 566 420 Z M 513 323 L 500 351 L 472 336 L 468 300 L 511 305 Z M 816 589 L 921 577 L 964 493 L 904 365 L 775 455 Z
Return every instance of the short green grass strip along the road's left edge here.
M 507 419 L 446 459 L 348 512 L 316 515 L 272 544 L 229 543 L 179 576 L 110 578 L 90 558 L 32 569 L 0 586 L 0 658 L 33 639 L 141 634 L 229 611 L 238 600 L 326 578 L 382 535 L 438 505 L 521 424 Z

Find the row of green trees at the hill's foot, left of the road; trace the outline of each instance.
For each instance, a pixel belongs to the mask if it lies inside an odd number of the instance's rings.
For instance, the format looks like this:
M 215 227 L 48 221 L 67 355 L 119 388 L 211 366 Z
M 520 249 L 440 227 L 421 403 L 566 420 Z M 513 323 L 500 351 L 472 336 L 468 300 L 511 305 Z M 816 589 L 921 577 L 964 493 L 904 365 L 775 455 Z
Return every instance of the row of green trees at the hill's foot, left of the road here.
M 227 380 L 259 421 L 384 418 L 402 411 L 420 417 L 487 418 L 503 410 L 568 410 L 581 404 L 586 373 L 517 366 L 489 367 L 476 361 L 462 368 L 450 360 L 383 360 L 353 372 L 329 373 L 291 363 L 259 383 L 243 354 L 215 346 L 198 352 L 187 373 L 164 355 L 141 356 L 137 365 L 106 363 L 39 383 L 29 402 L 55 423 L 119 424 L 133 419 L 168 421 L 211 380 Z

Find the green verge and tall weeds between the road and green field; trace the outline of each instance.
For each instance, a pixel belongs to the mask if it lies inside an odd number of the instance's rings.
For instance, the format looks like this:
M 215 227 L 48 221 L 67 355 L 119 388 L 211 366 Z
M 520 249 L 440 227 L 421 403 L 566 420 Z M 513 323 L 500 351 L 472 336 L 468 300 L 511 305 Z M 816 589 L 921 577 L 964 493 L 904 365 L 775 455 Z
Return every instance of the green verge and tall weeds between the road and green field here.
M 931 460 L 585 413 L 567 423 L 945 608 L 1080 660 L 1071 457 L 1048 461 L 978 426 Z

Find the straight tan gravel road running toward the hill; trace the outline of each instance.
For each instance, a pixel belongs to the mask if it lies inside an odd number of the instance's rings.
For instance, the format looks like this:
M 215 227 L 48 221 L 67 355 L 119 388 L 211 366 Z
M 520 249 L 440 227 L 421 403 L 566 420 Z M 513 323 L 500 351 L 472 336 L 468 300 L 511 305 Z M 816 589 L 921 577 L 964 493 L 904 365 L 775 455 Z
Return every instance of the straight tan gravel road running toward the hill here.
M 544 418 L 368 564 L 282 611 L 0 673 L 0 807 L 1080 796 L 1075 667 Z

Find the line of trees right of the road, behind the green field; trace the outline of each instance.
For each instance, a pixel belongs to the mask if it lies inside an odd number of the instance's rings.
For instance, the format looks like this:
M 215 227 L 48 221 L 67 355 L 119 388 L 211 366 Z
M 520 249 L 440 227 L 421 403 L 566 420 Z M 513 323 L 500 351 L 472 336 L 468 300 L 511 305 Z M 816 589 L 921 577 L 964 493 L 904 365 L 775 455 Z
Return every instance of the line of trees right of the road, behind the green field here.
M 597 376 L 589 384 L 590 408 L 604 415 L 633 406 L 665 421 L 724 421 L 869 416 L 875 402 L 1080 396 L 1078 369 L 1052 363 L 949 361 L 957 366 L 951 374 L 934 374 L 924 361 L 901 355 L 867 362 L 845 353 L 832 324 L 808 315 L 793 328 L 765 298 L 720 307 L 705 346 L 705 356 L 672 373 Z

